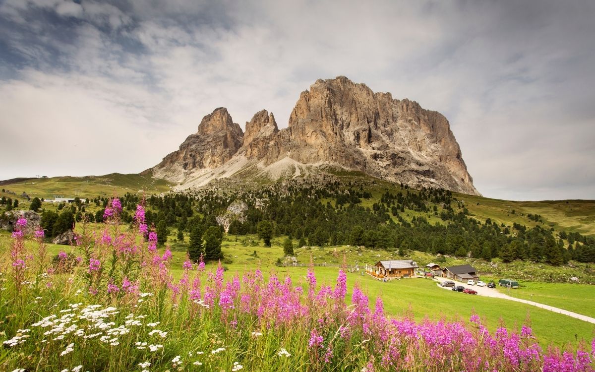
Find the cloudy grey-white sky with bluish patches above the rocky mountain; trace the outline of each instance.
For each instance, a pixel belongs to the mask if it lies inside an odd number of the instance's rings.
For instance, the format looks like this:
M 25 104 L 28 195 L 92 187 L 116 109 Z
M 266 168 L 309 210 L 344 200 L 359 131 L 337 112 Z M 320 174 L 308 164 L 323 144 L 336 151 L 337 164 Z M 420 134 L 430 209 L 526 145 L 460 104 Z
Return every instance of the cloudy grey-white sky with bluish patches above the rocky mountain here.
M 595 199 L 593 1 L 0 0 L 0 179 L 137 173 L 345 75 L 449 118 L 475 186 Z

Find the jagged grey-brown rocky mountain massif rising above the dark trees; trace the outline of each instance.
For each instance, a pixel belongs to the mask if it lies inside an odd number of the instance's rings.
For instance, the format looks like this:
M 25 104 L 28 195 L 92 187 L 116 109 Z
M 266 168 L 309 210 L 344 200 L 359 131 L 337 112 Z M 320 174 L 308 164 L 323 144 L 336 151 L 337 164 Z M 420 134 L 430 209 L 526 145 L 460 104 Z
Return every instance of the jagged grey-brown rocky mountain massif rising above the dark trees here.
M 217 108 L 150 171 L 187 189 L 223 177 L 278 179 L 327 168 L 480 195 L 444 115 L 344 76 L 302 92 L 281 130 L 262 110 L 243 133 L 226 108 Z

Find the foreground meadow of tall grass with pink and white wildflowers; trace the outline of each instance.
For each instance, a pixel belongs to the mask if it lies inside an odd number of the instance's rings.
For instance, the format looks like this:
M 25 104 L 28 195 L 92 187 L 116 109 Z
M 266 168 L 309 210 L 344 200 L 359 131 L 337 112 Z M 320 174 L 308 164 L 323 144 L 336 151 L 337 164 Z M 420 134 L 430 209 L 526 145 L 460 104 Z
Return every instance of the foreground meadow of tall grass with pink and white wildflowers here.
M 490 334 L 471 323 L 388 318 L 359 287 L 346 301 L 334 287 L 261 271 L 227 282 L 223 267 L 184 262 L 170 274 L 142 205 L 124 232 L 113 199 L 101 232 L 82 226 L 76 260 L 52 263 L 36 232 L 24 244 L 19 220 L 0 278 L 0 369 L 15 371 L 591 371 L 592 345 L 544 351 L 529 321 Z M 590 350 L 589 350 L 590 349 Z

